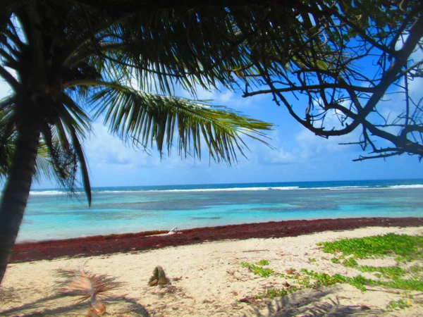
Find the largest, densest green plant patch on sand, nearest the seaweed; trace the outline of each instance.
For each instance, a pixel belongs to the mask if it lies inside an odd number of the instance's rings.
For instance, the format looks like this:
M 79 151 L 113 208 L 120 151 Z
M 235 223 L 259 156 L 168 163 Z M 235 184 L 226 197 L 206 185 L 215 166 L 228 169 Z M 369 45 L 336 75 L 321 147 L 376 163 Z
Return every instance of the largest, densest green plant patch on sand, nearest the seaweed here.
M 397 235 L 396 233 L 322 242 L 319 245 L 324 247 L 324 252 L 332 254 L 342 252 L 344 255 L 353 255 L 359 259 L 386 254 L 423 256 L 423 236 Z

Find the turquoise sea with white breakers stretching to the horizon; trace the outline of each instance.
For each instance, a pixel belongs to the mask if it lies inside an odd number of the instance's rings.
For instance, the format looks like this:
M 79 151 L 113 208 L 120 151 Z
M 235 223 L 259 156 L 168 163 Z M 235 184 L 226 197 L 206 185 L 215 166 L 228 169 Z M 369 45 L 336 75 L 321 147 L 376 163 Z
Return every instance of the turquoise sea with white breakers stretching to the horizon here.
M 423 216 L 423 180 L 97 187 L 30 194 L 18 241 L 264 221 Z

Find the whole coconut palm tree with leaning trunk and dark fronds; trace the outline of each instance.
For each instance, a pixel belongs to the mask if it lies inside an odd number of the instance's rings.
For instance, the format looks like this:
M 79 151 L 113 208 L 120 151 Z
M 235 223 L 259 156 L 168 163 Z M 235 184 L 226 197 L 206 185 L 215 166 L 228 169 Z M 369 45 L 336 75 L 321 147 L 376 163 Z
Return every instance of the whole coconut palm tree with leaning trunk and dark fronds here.
M 174 85 L 233 87 L 231 70 L 255 73 L 226 8 L 114 13 L 72 0 L 10 1 L 0 16 L 0 149 L 8 177 L 0 205 L 0 281 L 18 235 L 40 151 L 74 190 L 77 168 L 91 204 L 82 143 L 91 121 L 136 147 L 217 162 L 244 154 L 241 136 L 264 142 L 271 125 L 228 108 L 173 97 Z M 5 18 L 6 17 L 6 18 Z M 12 75 L 13 72 L 16 73 Z M 253 80 L 254 81 L 254 80 Z

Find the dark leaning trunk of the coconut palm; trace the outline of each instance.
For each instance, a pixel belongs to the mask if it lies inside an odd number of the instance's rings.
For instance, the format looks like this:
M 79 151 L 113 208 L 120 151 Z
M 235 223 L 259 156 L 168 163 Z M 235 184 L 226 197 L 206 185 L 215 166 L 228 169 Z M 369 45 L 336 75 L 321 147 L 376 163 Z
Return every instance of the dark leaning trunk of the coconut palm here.
M 25 212 L 39 147 L 39 125 L 34 118 L 25 121 L 18 128 L 15 154 L 0 203 L 0 284 Z

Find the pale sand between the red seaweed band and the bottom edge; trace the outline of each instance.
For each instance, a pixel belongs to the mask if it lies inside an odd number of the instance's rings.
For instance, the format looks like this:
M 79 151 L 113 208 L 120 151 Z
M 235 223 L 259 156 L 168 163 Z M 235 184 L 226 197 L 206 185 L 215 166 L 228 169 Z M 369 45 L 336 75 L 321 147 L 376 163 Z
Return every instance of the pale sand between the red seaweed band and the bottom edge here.
M 292 281 L 275 275 L 260 278 L 243 268 L 241 262 L 257 263 L 265 259 L 269 261 L 266 267 L 278 273 L 286 273 L 288 268 L 296 271 L 307 268 L 331 275 L 374 277 L 372 273 L 360 273 L 332 263 L 333 256 L 321 251 L 316 243 L 388 232 L 422 235 L 423 228 L 361 228 L 11 264 L 0 287 L 0 316 L 85 316 L 87 302 L 75 304 L 72 299 L 56 297 L 54 292 L 57 280 L 54 270 L 82 266 L 92 273 L 109 274 L 125 283 L 107 300 L 108 316 L 345 316 L 354 312 L 367 313 L 367 316 L 423 316 L 423 306 L 416 304 L 403 311 L 382 313 L 389 302 L 406 298 L 402 293 L 384 292 L 380 287 L 369 287 L 372 290 L 363 294 L 355 287 L 338 284 L 319 290 L 301 290 L 274 300 L 252 300 L 266 287 L 280 289 Z M 377 266 L 395 263 L 392 259 L 368 261 Z M 171 285 L 147 286 L 158 265 L 164 268 L 168 278 L 180 280 L 173 280 Z M 252 302 L 239 302 L 244 298 Z M 363 311 L 362 305 L 371 310 Z

